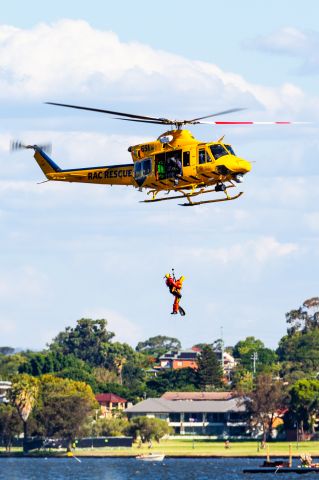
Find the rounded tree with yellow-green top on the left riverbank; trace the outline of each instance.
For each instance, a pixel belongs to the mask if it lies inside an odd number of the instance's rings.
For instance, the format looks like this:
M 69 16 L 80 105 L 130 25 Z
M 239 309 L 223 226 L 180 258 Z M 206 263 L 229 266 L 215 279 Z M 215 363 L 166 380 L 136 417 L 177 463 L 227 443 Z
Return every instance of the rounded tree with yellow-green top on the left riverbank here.
M 83 434 L 98 408 L 91 387 L 85 383 L 53 375 L 40 377 L 37 422 L 43 426 L 46 437 L 66 439 L 68 450 L 74 439 Z

